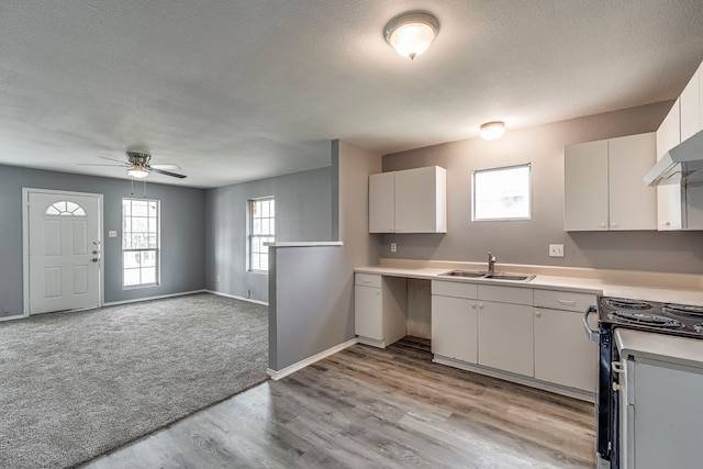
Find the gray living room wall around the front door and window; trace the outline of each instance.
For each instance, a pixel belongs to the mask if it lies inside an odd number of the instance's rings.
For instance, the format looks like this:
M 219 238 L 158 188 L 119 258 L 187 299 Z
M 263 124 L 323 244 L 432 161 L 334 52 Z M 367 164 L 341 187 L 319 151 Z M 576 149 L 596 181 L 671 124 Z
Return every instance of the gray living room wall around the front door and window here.
M 20 314 L 23 310 L 23 187 L 103 194 L 105 302 L 204 288 L 204 190 L 147 182 L 147 197 L 161 201 L 161 283 L 123 290 L 122 198 L 130 197 L 130 181 L 0 166 L 0 311 L 8 308 L 12 314 Z M 144 193 L 142 183 L 134 189 L 136 197 Z M 107 236 L 110 230 L 118 232 L 116 238 Z

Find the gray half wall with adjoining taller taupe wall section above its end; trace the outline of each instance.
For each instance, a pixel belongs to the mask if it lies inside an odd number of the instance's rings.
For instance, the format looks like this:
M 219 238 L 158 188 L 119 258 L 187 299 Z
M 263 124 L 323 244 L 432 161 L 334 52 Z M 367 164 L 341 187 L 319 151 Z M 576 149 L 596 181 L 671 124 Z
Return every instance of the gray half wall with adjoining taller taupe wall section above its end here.
M 269 368 L 282 370 L 352 339 L 354 268 L 379 261 L 380 237 L 368 234 L 368 175 L 381 158 L 345 142 L 332 148 L 338 186 L 339 247 L 278 247 L 270 272 Z M 334 211 L 333 211 L 334 212 Z

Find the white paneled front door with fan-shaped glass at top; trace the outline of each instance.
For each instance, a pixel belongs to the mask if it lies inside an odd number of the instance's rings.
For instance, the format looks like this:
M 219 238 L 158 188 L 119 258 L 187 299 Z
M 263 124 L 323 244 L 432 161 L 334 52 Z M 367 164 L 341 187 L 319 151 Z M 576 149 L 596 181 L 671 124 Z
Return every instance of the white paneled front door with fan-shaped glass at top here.
M 26 191 L 29 314 L 100 306 L 101 196 Z

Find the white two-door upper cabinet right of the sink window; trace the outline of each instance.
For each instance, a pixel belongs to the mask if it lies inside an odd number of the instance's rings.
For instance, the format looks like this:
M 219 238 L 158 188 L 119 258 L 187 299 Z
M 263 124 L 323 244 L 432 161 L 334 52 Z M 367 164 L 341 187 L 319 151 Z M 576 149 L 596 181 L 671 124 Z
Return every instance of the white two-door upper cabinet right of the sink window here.
M 657 228 L 657 192 L 643 182 L 654 133 L 568 145 L 563 156 L 566 231 Z

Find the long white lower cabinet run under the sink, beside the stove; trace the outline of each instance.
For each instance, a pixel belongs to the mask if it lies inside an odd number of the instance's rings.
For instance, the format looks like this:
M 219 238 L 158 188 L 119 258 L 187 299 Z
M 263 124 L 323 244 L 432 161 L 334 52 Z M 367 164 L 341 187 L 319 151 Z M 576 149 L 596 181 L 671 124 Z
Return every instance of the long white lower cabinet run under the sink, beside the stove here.
M 598 344 L 582 324 L 591 304 L 590 293 L 433 280 L 432 353 L 445 365 L 593 393 Z

